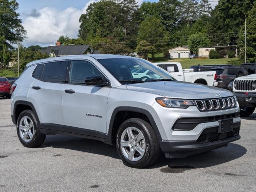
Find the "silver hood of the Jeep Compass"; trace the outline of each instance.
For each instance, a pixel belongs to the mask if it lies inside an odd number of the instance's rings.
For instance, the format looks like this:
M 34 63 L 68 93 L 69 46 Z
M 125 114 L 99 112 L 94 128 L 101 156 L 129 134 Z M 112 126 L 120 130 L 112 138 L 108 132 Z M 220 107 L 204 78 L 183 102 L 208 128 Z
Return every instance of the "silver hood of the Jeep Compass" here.
M 210 99 L 233 96 L 232 92 L 225 89 L 180 81 L 128 84 L 127 89 L 180 99 Z

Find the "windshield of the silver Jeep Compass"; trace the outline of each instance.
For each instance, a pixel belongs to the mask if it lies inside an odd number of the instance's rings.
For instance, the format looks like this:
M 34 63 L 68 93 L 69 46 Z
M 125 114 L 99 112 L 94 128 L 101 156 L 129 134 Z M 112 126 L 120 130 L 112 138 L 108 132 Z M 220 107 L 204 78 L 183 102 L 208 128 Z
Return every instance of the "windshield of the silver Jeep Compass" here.
M 175 80 L 158 66 L 139 58 L 99 59 L 98 62 L 121 84 Z

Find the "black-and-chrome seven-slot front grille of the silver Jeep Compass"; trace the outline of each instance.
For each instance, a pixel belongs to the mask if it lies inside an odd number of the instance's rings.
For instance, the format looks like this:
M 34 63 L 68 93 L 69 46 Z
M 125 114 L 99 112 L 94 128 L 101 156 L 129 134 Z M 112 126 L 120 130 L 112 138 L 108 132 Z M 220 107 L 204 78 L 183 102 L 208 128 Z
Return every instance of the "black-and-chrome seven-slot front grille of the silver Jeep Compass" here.
M 230 109 L 237 106 L 236 98 L 234 96 L 219 99 L 195 100 L 195 103 L 200 111 Z

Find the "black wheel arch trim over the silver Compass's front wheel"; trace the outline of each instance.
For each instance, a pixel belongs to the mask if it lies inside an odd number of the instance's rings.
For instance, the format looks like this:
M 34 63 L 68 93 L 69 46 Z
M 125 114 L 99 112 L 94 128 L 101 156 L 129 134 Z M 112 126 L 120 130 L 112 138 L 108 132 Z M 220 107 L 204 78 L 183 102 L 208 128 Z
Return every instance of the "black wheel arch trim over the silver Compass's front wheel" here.
M 158 141 L 162 141 L 162 137 L 160 135 L 160 132 L 158 130 L 156 122 L 155 122 L 153 116 L 151 115 L 151 113 L 146 109 L 142 109 L 142 108 L 138 108 L 138 107 L 130 107 L 130 106 L 120 106 L 120 107 L 115 108 L 114 111 L 112 112 L 112 116 L 110 118 L 110 123 L 108 126 L 108 136 L 110 137 L 111 140 L 112 140 L 112 130 L 113 130 L 113 126 L 114 126 L 114 120 L 115 120 L 116 114 L 120 111 L 130 111 L 130 112 L 137 112 L 137 113 L 144 114 L 148 118 L 148 120 L 153 128 L 154 133 L 156 134 L 156 138 L 158 139 Z

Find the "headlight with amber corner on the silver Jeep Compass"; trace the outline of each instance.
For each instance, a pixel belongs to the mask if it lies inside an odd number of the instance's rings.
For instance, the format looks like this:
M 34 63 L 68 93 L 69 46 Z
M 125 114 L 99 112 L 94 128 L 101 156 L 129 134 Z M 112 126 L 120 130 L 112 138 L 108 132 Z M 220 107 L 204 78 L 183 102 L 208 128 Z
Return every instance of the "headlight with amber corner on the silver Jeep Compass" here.
M 190 106 L 195 106 L 192 100 L 185 99 L 168 99 L 168 98 L 156 98 L 156 102 L 163 107 L 169 108 L 183 108 L 186 109 Z

